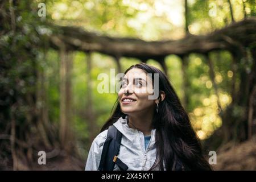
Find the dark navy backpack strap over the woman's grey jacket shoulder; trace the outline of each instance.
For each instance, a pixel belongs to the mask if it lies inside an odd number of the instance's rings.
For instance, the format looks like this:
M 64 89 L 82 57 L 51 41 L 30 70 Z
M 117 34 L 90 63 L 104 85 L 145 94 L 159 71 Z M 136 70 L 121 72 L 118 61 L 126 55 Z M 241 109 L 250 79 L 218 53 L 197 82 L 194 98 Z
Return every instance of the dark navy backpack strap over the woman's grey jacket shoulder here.
M 109 126 L 108 135 L 102 149 L 101 161 L 98 170 L 113 171 L 115 164 L 117 164 L 121 171 L 126 171 L 128 169 L 128 166 L 117 158 L 121 139 L 122 133 L 113 125 Z

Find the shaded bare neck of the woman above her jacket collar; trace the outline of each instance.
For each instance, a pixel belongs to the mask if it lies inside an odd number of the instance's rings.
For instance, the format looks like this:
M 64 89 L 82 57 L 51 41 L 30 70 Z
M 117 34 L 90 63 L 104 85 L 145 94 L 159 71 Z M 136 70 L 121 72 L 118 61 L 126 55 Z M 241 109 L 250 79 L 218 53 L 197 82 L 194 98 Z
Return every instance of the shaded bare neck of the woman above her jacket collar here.
M 151 135 L 153 114 L 128 115 L 128 119 L 129 127 L 141 131 L 145 136 Z

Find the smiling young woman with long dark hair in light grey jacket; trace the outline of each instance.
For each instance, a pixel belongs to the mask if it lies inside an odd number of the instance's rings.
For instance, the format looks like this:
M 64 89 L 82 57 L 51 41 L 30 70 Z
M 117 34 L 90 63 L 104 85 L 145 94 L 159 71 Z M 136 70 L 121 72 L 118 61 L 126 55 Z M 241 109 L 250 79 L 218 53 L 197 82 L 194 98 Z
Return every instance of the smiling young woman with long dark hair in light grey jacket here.
M 158 73 L 158 88 L 154 88 L 154 73 Z M 159 97 L 148 99 L 156 89 Z M 188 114 L 158 68 L 140 63 L 127 69 L 115 105 L 90 147 L 85 170 L 98 169 L 111 125 L 122 133 L 118 158 L 128 170 L 211 170 Z M 119 170 L 116 164 L 114 170 Z

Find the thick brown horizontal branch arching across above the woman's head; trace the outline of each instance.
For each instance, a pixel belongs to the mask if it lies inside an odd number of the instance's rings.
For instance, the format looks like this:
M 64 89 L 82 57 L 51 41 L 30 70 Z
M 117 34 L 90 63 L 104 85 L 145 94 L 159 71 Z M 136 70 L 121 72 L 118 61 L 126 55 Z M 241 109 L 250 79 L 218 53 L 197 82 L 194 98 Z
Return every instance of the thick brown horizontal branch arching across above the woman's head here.
M 180 40 L 163 40 L 146 42 L 134 38 L 111 38 L 86 32 L 78 27 L 53 26 L 51 47 L 59 49 L 65 44 L 68 50 L 96 51 L 110 56 L 135 57 L 141 60 L 165 57 L 170 54 L 188 55 L 189 53 L 208 53 L 214 50 L 230 49 L 224 37 L 240 43 L 244 47 L 254 44 L 256 37 L 256 19 L 248 18 L 241 22 L 230 24 L 208 35 L 190 35 Z M 55 29 L 54 29 L 55 30 Z

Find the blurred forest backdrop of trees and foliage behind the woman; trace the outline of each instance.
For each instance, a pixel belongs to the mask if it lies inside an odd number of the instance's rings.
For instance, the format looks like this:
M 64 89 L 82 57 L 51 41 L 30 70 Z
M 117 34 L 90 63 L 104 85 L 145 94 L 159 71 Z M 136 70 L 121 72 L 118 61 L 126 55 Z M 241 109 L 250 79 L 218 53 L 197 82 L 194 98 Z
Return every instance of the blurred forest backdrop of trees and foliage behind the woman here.
M 117 98 L 98 93 L 98 75 L 141 61 L 166 72 L 204 154 L 250 139 L 255 7 L 253 0 L 1 1 L 0 169 L 59 169 L 59 159 L 67 159 L 63 169 L 84 168 Z M 52 166 L 38 166 L 40 150 Z

